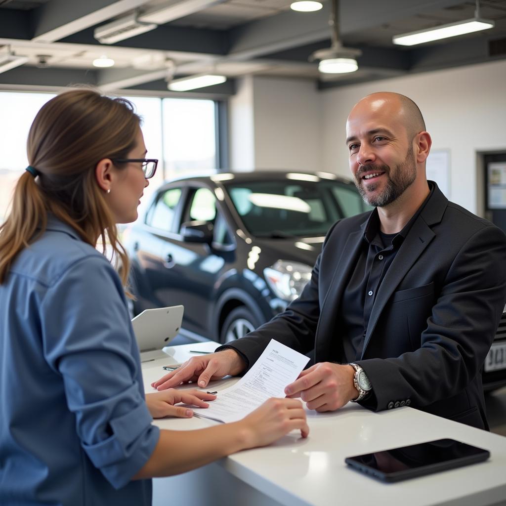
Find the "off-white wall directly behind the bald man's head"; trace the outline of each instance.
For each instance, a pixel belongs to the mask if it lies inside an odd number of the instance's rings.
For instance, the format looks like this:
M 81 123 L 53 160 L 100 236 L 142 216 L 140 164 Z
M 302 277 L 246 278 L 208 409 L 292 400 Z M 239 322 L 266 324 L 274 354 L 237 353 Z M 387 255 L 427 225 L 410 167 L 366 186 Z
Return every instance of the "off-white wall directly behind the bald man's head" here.
M 433 149 L 450 151 L 451 200 L 476 213 L 477 152 L 506 150 L 506 61 L 322 92 L 324 171 L 349 176 L 346 118 L 360 98 L 378 91 L 402 93 L 418 104 Z

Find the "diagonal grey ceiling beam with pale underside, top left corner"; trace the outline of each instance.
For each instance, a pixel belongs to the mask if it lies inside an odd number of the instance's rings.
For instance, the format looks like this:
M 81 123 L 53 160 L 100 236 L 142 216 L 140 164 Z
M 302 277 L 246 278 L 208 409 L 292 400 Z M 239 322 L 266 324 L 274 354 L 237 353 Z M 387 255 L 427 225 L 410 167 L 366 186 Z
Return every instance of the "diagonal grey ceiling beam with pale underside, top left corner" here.
M 37 42 L 54 42 L 132 11 L 149 0 L 50 0 L 32 12 L 33 37 Z

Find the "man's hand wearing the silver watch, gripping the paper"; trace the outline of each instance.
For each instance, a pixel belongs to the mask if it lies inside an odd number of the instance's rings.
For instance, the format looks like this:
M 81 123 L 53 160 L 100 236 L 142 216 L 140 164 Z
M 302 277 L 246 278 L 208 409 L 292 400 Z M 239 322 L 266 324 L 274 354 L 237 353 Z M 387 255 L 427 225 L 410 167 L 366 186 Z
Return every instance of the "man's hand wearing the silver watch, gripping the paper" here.
M 287 397 L 300 397 L 308 409 L 334 411 L 358 397 L 353 386 L 355 369 L 351 365 L 320 362 L 302 371 L 285 388 Z

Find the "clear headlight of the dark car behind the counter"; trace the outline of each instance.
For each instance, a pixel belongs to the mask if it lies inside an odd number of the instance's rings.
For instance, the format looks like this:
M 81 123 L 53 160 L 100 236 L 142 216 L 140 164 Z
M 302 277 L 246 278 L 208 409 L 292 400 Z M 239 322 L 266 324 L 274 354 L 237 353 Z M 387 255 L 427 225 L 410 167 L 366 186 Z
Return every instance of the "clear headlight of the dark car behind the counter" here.
M 311 271 L 309 265 L 278 260 L 273 266 L 264 269 L 264 276 L 277 297 L 291 302 L 300 296 L 311 279 Z

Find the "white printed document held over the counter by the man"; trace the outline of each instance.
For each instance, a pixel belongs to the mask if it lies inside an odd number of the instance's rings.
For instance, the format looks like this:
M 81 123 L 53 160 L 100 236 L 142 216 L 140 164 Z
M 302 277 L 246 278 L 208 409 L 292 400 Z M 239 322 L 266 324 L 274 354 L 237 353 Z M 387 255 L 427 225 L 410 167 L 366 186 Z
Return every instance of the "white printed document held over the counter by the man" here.
M 195 416 L 230 422 L 244 418 L 270 397 L 286 397 L 284 389 L 294 382 L 309 358 L 274 339 L 255 365 L 232 387 L 218 392 L 208 408 L 193 408 Z M 210 388 L 210 387 L 209 387 Z

